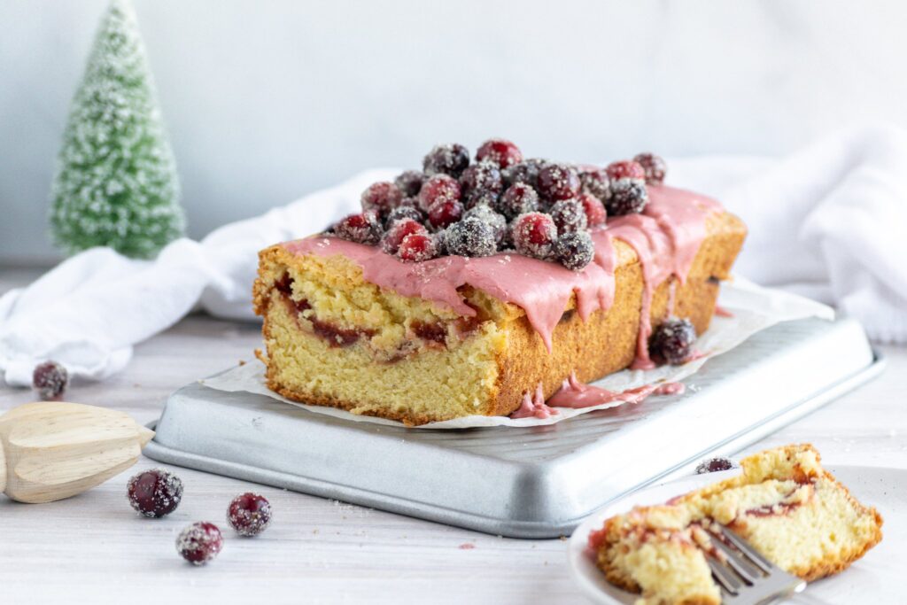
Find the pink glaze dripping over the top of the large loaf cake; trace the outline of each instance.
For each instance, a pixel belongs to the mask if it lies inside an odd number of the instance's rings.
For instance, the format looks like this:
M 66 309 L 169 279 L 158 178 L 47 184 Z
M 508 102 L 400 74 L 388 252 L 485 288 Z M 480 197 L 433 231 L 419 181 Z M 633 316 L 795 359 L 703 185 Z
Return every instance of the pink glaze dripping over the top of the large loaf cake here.
M 551 351 L 551 334 L 571 295 L 576 294 L 577 311 L 584 321 L 594 311 L 607 310 L 613 304 L 617 259 L 612 240 L 622 239 L 636 250 L 645 281 L 637 360 L 633 367 L 652 367 L 654 364 L 649 359 L 652 293 L 670 275 L 677 276 L 681 282 L 686 279 L 706 237 L 707 215 L 717 210 L 721 210 L 717 201 L 696 193 L 651 186 L 649 204 L 643 214 L 615 217 L 605 227 L 592 230 L 595 257 L 580 271 L 503 252 L 481 259 L 453 256 L 404 263 L 379 247 L 325 236 L 297 239 L 285 243 L 284 247 L 297 255 L 346 256 L 362 268 L 366 281 L 406 297 L 431 300 L 467 317 L 473 317 L 475 309 L 463 301 L 457 288 L 469 284 L 482 289 L 494 298 L 522 307 L 533 329 Z

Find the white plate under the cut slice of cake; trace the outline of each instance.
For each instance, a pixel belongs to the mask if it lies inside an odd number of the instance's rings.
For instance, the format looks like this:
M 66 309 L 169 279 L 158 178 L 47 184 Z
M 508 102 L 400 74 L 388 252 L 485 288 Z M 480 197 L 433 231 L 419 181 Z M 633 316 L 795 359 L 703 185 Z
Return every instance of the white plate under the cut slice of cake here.
M 800 603 L 902 603 L 903 561 L 907 559 L 907 470 L 873 466 L 830 466 L 828 470 L 854 496 L 882 513 L 883 540 L 863 559 L 832 578 L 815 581 L 805 592 L 788 602 Z M 586 550 L 590 532 L 600 529 L 605 519 L 627 512 L 636 504 L 664 503 L 708 483 L 739 473 L 739 470 L 696 475 L 631 493 L 593 514 L 573 532 L 567 557 L 571 574 L 592 602 L 605 605 L 631 604 L 639 598 L 605 581 Z

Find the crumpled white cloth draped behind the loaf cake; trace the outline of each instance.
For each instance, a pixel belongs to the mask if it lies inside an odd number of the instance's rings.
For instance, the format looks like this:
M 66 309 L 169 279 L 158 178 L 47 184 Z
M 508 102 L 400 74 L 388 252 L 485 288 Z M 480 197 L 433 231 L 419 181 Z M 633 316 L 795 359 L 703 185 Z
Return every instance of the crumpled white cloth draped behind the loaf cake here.
M 375 170 L 256 219 L 180 239 L 153 261 L 87 250 L 28 288 L 0 298 L 0 369 L 28 385 L 55 359 L 101 379 L 132 346 L 200 303 L 219 317 L 251 319 L 257 252 L 303 237 L 353 211 L 359 193 L 396 171 Z M 907 132 L 836 133 L 781 160 L 703 157 L 668 161 L 668 182 L 707 192 L 736 212 L 749 237 L 736 271 L 836 305 L 871 337 L 907 343 Z

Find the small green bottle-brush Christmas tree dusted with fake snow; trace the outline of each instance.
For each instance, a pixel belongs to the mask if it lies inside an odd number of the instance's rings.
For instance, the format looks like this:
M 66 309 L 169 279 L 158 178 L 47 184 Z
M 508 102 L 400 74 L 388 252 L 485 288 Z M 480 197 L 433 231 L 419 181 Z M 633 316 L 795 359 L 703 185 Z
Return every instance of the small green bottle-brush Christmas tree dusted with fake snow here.
M 63 134 L 51 226 L 69 253 L 148 258 L 184 229 L 180 183 L 128 0 L 104 15 Z

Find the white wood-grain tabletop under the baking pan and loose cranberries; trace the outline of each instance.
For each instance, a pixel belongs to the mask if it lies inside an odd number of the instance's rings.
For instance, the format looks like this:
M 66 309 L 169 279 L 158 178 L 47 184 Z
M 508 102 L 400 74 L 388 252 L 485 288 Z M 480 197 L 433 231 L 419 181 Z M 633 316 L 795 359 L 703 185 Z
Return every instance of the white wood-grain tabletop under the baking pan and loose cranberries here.
M 0 269 L 0 293 L 30 278 Z M 122 374 L 72 385 L 67 399 L 148 423 L 172 390 L 249 359 L 258 344 L 257 325 L 191 316 L 138 346 Z M 907 349 L 879 348 L 889 364 L 882 377 L 748 449 L 812 442 L 830 464 L 907 468 Z M 0 385 L 0 412 L 33 399 Z M 126 502 L 125 484 L 154 465 L 142 459 L 63 502 L 0 496 L 0 603 L 582 601 L 563 540 L 498 538 L 186 469 L 174 469 L 185 485 L 180 507 L 143 519 Z M 249 489 L 275 511 L 268 531 L 251 540 L 224 522 L 229 500 Z M 216 561 L 193 568 L 173 544 L 201 520 L 218 523 L 226 542 Z

